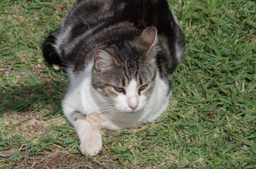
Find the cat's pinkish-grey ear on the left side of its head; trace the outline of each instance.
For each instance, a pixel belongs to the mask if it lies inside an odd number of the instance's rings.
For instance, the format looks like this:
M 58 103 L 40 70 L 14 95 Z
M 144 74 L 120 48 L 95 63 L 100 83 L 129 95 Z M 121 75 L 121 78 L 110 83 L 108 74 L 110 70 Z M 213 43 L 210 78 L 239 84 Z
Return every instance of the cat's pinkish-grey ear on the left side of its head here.
M 94 66 L 96 70 L 107 70 L 112 64 L 119 65 L 115 58 L 102 49 L 98 49 L 94 54 Z

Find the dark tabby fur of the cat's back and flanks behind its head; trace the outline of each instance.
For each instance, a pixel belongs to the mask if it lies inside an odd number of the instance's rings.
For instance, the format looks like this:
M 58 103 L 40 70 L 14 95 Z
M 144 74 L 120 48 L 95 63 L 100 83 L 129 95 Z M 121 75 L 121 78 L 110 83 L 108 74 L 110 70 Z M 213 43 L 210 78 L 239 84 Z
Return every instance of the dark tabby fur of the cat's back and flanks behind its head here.
M 131 41 L 148 26 L 158 30 L 163 49 L 158 65 L 161 75 L 168 76 L 180 61 L 185 40 L 166 0 L 80 0 L 52 34 L 52 46 L 63 65 L 79 72 L 92 61 L 95 50 Z

